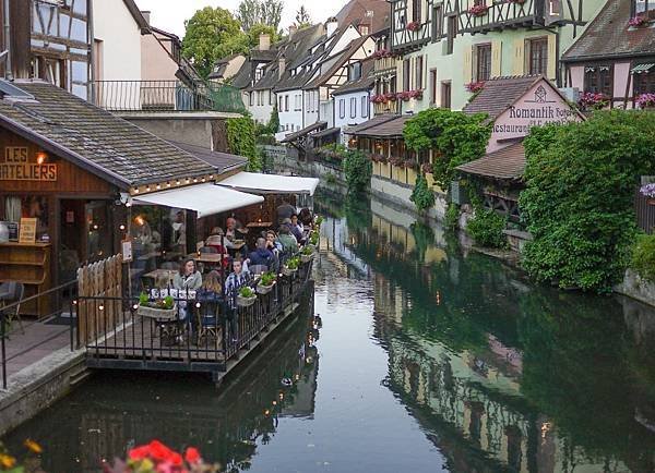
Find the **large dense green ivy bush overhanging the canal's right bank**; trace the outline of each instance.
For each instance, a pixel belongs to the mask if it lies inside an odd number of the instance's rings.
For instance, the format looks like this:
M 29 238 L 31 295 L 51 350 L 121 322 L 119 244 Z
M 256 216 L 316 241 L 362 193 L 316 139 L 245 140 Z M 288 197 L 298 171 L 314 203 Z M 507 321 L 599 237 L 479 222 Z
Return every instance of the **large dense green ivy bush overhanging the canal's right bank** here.
M 520 206 L 534 241 L 523 265 L 538 280 L 607 291 L 630 259 L 634 189 L 655 172 L 655 113 L 596 112 L 533 128 Z

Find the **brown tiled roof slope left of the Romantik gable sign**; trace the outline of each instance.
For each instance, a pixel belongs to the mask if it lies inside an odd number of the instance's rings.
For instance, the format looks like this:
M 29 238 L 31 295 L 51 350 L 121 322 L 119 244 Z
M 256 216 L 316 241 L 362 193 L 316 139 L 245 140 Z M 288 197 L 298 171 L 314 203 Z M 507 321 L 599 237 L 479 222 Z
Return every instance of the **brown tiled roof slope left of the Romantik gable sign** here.
M 523 97 L 541 75 L 498 77 L 487 81 L 485 88 L 464 107 L 465 113 L 488 113 L 495 121 L 502 112 Z

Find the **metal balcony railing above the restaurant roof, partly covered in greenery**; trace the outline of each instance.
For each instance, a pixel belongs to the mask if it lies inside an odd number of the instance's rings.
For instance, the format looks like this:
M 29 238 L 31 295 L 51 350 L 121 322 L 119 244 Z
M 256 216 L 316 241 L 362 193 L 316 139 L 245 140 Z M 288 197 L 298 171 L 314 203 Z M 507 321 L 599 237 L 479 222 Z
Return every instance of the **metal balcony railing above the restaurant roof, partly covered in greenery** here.
M 114 112 L 242 112 L 239 90 L 227 85 L 203 83 L 188 86 L 180 81 L 96 81 L 94 104 Z

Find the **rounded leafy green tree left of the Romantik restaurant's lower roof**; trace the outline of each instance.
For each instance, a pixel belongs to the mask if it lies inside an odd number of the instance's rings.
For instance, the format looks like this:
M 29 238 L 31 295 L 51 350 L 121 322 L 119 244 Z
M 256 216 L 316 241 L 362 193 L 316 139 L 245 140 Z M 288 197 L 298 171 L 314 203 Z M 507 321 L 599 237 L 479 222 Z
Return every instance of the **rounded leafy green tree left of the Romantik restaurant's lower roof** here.
M 403 136 L 409 149 L 434 150 L 434 182 L 448 189 L 457 166 L 484 156 L 491 136 L 486 119 L 486 114 L 430 108 L 405 123 Z

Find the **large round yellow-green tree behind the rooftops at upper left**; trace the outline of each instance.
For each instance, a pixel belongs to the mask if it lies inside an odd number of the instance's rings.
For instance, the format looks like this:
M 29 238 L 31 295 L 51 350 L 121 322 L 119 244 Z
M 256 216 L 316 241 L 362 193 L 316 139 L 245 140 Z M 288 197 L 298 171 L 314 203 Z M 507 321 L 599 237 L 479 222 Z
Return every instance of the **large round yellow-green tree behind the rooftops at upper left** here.
M 206 77 L 217 59 L 228 50 L 242 50 L 240 25 L 228 10 L 205 7 L 184 22 L 182 54 Z M 247 41 L 245 43 L 247 44 Z M 246 49 L 247 50 L 247 49 Z

